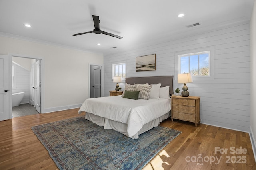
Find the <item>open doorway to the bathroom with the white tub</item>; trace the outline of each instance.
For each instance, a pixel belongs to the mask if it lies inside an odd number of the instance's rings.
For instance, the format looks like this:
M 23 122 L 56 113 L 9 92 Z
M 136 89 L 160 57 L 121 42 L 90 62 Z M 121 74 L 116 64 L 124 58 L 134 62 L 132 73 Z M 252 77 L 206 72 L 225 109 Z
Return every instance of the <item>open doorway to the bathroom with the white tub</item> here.
M 15 93 L 25 92 L 14 104 Z M 17 106 L 18 105 L 18 106 Z M 12 117 L 41 113 L 41 59 L 12 55 Z

